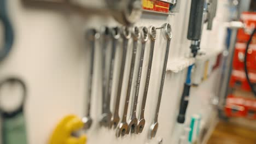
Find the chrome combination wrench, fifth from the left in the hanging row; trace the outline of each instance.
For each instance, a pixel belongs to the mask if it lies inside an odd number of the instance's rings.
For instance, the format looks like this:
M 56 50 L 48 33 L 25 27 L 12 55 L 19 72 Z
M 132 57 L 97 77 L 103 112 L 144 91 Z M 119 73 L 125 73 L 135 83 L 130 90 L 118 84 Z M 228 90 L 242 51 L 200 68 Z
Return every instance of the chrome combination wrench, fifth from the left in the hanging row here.
M 117 137 L 124 136 L 128 131 L 128 124 L 126 122 L 126 116 L 127 116 L 127 110 L 128 110 L 130 94 L 131 94 L 133 71 L 134 71 L 134 67 L 135 67 L 138 39 L 140 36 L 141 35 L 139 33 L 139 28 L 133 27 L 133 29 L 132 29 L 133 49 L 132 49 L 132 58 L 131 58 L 130 73 L 129 73 L 129 82 L 128 82 L 127 92 L 126 92 L 126 97 L 125 97 L 123 118 L 121 119 L 121 122 L 119 123 L 118 128 L 117 128 Z

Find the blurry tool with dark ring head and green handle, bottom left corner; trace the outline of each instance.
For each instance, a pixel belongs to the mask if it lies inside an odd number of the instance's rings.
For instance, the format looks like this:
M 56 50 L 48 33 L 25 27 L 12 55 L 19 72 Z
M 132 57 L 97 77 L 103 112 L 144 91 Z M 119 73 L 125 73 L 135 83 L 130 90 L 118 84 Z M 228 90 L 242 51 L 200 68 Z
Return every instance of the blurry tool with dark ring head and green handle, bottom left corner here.
M 15 106 L 15 110 L 7 110 L 3 105 L 0 106 L 2 116 L 2 143 L 4 144 L 26 144 L 26 124 L 24 117 L 24 105 L 27 98 L 27 87 L 25 83 L 16 77 L 9 77 L 8 79 L 0 82 L 0 89 L 4 86 L 9 85 L 13 88 L 16 85 L 20 85 L 22 88 L 21 103 Z M 1 95 L 1 100 L 4 96 Z M 19 98 L 16 98 L 19 99 Z M 3 100 L 4 101 L 4 100 Z

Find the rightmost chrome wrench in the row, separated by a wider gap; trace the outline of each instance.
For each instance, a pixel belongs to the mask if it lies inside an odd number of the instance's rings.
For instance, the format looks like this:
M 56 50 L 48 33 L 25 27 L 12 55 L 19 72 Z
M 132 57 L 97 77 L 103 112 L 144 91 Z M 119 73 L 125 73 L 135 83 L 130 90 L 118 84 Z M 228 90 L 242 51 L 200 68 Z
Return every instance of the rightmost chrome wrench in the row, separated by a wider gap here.
M 149 128 L 149 139 L 152 139 L 153 137 L 155 137 L 156 131 L 158 130 L 158 114 L 159 114 L 159 108 L 160 108 L 161 97 L 162 97 L 162 89 L 164 88 L 166 65 L 167 65 L 167 61 L 168 61 L 170 42 L 172 39 L 171 25 L 169 23 L 164 23 L 161 26 L 161 28 L 163 29 L 163 32 L 165 33 L 165 36 L 167 39 L 167 45 L 166 45 L 166 51 L 165 51 L 164 67 L 162 68 L 162 76 L 161 76 L 161 83 L 160 83 L 160 89 L 159 89 L 159 95 L 158 95 L 158 103 L 156 105 L 154 122 Z

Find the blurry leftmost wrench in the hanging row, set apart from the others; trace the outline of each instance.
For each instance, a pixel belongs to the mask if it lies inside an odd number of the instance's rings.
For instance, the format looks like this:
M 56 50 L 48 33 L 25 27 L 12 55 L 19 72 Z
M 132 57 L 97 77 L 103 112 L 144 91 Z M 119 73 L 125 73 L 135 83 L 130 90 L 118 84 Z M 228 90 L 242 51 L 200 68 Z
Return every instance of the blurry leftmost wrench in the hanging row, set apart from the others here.
M 89 88 L 88 88 L 88 98 L 87 98 L 87 112 L 86 115 L 82 118 L 84 123 L 84 129 L 87 130 L 92 125 L 92 118 L 91 118 L 91 89 L 92 89 L 92 76 L 94 75 L 94 55 L 95 55 L 95 41 L 100 38 L 100 33 L 96 31 L 96 29 L 90 29 L 86 36 L 90 41 L 91 45 L 91 63 L 90 63 L 90 76 L 89 76 Z

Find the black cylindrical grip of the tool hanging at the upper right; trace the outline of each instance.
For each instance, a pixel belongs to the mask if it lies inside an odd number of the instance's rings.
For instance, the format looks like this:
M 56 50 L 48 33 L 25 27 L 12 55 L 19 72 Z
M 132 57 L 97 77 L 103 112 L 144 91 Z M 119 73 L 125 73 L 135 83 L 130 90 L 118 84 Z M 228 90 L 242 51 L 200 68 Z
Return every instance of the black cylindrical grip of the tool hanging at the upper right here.
M 200 40 L 203 18 L 203 5 L 205 0 L 192 0 L 189 15 L 189 27 L 187 38 L 189 40 Z

